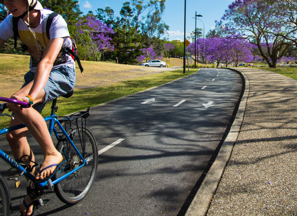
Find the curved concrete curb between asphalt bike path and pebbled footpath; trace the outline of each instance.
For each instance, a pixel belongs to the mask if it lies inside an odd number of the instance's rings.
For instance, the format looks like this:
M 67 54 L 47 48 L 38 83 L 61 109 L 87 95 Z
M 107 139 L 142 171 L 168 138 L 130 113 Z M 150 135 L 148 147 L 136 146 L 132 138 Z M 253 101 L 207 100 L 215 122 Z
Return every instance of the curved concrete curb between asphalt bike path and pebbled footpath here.
M 247 98 L 249 96 L 249 79 L 247 76 L 234 68 L 226 68 L 239 73 L 243 80 L 244 94 L 241 98 L 238 111 L 236 113 L 234 122 L 231 126 L 230 132 L 228 133 L 222 147 L 219 150 L 217 158 L 213 165 L 209 169 L 203 183 L 200 185 L 193 201 L 191 202 L 185 216 L 204 216 L 208 211 L 208 207 L 211 200 L 217 190 L 225 167 L 230 159 L 233 146 L 237 140 L 240 132 L 241 124 L 244 118 L 244 112 L 247 105 Z

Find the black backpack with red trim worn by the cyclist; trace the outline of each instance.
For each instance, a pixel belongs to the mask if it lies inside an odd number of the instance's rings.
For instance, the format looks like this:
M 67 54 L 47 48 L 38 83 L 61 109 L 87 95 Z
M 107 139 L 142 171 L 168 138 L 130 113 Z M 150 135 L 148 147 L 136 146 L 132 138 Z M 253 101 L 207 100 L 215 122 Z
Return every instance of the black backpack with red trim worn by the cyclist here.
M 53 12 L 48 16 L 48 19 L 46 20 L 46 36 L 48 37 L 48 39 L 50 39 L 50 26 L 52 25 L 53 18 L 56 17 L 57 15 L 58 15 L 57 12 Z M 13 38 L 15 40 L 15 48 L 17 47 L 17 38 L 20 38 L 20 35 L 18 33 L 19 19 L 20 19 L 20 17 L 12 17 Z M 66 51 L 66 53 L 68 55 L 70 55 L 74 61 L 77 61 L 80 72 L 82 73 L 83 67 L 81 66 L 80 60 L 77 56 L 76 42 L 74 39 L 72 39 L 72 38 L 70 38 L 70 39 L 72 42 L 72 49 L 70 49 L 69 47 L 62 47 L 62 49 L 64 49 L 64 51 Z M 22 48 L 24 50 L 28 50 L 28 47 L 25 44 L 22 44 Z

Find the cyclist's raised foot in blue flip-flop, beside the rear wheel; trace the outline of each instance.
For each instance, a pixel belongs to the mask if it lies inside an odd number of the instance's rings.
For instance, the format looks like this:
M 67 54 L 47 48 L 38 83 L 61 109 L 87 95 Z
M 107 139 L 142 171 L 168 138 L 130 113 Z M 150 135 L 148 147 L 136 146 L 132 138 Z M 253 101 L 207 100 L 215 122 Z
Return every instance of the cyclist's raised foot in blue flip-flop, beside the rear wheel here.
M 63 156 L 59 152 L 57 155 L 46 156 L 40 169 L 38 170 L 35 180 L 42 180 L 45 177 L 51 175 L 55 171 L 57 164 L 61 163 L 62 160 Z

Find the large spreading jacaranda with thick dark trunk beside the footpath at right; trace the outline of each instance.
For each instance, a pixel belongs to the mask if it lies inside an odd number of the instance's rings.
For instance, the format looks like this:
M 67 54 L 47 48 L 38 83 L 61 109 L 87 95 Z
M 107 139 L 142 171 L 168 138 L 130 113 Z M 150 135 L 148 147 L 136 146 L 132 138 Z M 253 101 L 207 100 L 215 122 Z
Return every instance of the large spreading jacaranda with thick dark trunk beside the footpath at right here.
M 286 39 L 292 36 L 291 29 L 284 25 L 287 17 L 282 13 L 276 14 L 275 6 L 272 0 L 236 0 L 216 23 L 217 31 L 225 37 L 231 35 L 257 45 L 269 67 L 275 68 L 287 47 L 293 45 Z M 266 44 L 267 52 L 262 49 L 261 43 Z

